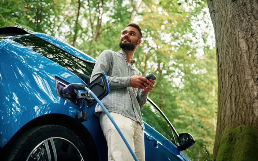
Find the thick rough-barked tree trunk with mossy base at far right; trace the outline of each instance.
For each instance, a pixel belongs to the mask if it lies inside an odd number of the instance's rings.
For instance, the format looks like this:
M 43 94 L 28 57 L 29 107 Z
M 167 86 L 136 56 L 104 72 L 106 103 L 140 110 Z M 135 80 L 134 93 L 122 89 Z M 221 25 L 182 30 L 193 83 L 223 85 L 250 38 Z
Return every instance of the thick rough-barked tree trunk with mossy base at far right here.
M 258 1 L 207 2 L 218 66 L 213 160 L 257 160 Z

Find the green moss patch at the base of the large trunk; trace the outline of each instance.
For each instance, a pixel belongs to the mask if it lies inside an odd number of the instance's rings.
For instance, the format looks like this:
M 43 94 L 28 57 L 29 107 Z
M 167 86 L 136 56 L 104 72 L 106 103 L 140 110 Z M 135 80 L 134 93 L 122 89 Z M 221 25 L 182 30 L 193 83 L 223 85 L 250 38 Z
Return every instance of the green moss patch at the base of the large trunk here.
M 258 159 L 258 130 L 254 127 L 227 127 L 220 139 L 216 161 Z

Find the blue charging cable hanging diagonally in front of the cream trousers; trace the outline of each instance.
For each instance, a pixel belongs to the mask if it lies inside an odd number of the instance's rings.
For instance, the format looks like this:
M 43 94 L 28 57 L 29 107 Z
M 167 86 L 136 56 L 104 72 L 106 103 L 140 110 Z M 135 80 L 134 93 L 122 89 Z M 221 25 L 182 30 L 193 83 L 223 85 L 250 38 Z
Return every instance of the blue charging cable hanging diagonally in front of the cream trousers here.
M 120 134 L 120 136 L 122 137 L 123 141 L 125 142 L 127 148 L 129 149 L 130 153 L 132 154 L 134 160 L 138 161 L 138 159 L 136 158 L 136 155 L 134 154 L 133 150 L 131 149 L 130 145 L 128 144 L 126 138 L 124 137 L 124 135 L 122 134 L 121 130 L 118 128 L 116 122 L 113 120 L 113 118 L 111 117 L 111 115 L 109 114 L 108 110 L 106 109 L 106 107 L 100 102 L 99 98 L 87 87 L 84 87 L 85 90 L 87 90 L 91 96 L 93 98 L 96 99 L 96 101 L 99 103 L 100 107 L 102 107 L 102 109 L 104 110 L 104 112 L 108 115 L 109 119 L 111 120 L 111 122 L 114 124 L 115 128 L 117 129 L 118 133 Z

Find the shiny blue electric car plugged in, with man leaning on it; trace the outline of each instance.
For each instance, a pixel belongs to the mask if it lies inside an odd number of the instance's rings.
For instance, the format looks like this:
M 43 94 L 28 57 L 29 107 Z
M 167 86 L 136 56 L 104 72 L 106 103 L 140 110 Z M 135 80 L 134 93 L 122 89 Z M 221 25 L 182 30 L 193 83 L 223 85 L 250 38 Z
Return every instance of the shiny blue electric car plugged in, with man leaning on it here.
M 0 160 L 107 160 L 96 100 L 80 89 L 63 92 L 80 83 L 104 98 L 105 74 L 90 83 L 95 62 L 50 35 L 0 28 Z M 191 134 L 178 134 L 149 98 L 141 113 L 146 161 L 189 160 L 182 150 L 195 143 Z

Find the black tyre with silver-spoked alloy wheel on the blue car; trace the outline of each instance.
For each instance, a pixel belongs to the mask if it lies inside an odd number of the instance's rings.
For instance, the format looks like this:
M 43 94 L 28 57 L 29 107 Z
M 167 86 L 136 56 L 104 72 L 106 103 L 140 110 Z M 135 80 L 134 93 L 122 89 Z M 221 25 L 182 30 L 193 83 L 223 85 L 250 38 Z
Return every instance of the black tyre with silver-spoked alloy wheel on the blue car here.
M 7 155 L 7 161 L 90 160 L 79 137 L 68 128 L 58 125 L 29 129 Z

